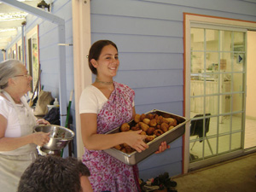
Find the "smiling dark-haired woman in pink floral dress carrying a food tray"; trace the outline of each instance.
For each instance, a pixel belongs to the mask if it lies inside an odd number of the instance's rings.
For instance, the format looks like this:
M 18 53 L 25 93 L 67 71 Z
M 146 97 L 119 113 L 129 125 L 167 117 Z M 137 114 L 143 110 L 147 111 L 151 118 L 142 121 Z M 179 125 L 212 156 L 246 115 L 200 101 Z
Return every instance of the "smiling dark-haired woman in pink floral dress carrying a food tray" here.
M 105 153 L 104 149 L 127 143 L 142 152 L 148 145 L 140 131 L 105 134 L 129 122 L 136 114 L 135 92 L 113 81 L 119 68 L 117 46 L 109 40 L 94 43 L 89 52 L 89 67 L 96 81 L 87 86 L 79 100 L 81 132 L 84 142 L 83 162 L 90 169 L 94 191 L 140 191 L 137 166 L 129 166 Z M 162 143 L 159 152 L 168 148 Z

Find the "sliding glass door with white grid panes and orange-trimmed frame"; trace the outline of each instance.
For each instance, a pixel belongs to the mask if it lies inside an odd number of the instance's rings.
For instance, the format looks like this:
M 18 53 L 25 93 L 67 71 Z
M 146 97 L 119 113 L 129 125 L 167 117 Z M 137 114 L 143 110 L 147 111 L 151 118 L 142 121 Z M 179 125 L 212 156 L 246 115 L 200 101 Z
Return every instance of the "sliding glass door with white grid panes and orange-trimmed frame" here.
M 247 31 L 254 31 L 256 23 L 193 14 L 184 18 L 185 116 L 191 124 L 184 136 L 183 170 L 188 172 L 247 153 Z M 191 131 L 195 122 L 201 122 L 197 133 Z

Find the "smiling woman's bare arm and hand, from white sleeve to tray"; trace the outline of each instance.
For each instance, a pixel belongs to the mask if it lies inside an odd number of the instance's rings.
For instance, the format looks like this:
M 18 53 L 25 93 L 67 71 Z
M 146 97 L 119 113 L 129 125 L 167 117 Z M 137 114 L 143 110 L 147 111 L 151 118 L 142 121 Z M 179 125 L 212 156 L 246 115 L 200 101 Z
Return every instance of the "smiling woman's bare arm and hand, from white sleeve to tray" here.
M 114 134 L 97 134 L 97 114 L 96 113 L 81 113 L 81 132 L 84 147 L 89 150 L 103 150 L 112 148 L 118 144 L 127 143 L 138 152 L 148 148 L 148 145 L 143 142 L 146 138 L 140 135 L 141 131 L 126 131 Z

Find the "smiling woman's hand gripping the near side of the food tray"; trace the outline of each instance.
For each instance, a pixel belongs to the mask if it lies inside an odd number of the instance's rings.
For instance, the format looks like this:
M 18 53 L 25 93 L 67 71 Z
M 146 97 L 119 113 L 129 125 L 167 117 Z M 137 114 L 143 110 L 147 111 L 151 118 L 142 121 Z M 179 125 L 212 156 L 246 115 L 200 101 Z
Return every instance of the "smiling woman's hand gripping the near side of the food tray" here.
M 144 139 L 147 137 L 145 135 L 141 135 L 140 133 L 142 130 L 139 131 L 126 131 L 125 134 L 125 143 L 130 145 L 131 148 L 137 150 L 137 152 L 142 152 L 146 148 L 148 148 L 148 144 L 144 143 Z

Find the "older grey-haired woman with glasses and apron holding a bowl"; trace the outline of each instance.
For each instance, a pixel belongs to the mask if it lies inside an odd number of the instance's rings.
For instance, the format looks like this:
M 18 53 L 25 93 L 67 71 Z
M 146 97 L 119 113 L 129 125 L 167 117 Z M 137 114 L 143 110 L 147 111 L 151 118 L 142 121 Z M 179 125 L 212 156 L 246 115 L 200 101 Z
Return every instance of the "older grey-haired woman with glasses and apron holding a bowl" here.
M 20 61 L 0 63 L 1 191 L 17 190 L 20 176 L 38 157 L 37 145 L 49 142 L 48 133 L 32 133 L 36 119 L 24 97 L 31 90 L 31 81 L 32 77 Z

